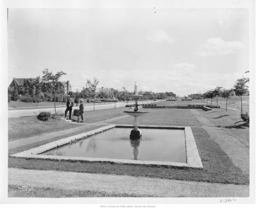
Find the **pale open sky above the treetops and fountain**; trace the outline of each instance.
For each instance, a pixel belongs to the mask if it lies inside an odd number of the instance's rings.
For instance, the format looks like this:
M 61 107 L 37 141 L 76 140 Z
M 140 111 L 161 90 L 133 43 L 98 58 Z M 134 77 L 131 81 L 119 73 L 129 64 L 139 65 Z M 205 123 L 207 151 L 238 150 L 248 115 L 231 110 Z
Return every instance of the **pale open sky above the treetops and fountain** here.
M 8 83 L 64 71 L 72 90 L 232 88 L 249 70 L 247 9 L 9 9 Z

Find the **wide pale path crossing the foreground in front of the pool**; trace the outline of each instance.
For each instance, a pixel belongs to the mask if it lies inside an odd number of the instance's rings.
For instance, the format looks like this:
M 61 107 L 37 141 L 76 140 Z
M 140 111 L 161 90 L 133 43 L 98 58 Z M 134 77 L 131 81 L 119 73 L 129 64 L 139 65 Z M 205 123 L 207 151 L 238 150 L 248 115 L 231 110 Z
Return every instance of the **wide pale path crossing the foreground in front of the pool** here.
M 248 197 L 248 185 L 9 168 L 9 185 L 154 197 Z

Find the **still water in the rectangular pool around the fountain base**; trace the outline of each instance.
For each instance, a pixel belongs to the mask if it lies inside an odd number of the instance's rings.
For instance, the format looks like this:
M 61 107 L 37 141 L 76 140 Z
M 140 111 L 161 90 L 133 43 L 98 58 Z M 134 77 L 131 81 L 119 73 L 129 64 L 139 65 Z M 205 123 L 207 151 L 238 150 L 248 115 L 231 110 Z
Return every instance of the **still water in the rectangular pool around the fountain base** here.
M 140 128 L 140 140 L 130 140 L 131 130 L 115 127 L 42 154 L 186 163 L 184 129 Z

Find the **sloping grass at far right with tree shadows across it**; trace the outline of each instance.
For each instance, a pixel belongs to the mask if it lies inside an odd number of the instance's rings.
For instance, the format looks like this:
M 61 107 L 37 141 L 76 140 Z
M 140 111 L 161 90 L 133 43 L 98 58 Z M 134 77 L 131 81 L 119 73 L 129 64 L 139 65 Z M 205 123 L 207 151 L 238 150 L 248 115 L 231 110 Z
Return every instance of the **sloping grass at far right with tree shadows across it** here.
M 201 111 L 201 110 L 200 110 Z M 201 111 L 208 120 L 221 127 L 228 135 L 239 140 L 245 147 L 249 148 L 249 124 L 240 117 L 240 112 L 233 110 L 212 109 Z

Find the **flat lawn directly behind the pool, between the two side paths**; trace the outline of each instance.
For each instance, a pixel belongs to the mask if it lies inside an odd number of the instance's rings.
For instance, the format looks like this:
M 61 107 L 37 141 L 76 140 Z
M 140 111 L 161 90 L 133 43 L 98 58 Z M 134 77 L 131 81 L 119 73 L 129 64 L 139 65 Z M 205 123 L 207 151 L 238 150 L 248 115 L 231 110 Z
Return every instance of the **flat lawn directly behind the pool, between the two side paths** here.
M 143 112 L 149 112 L 139 117 L 140 124 L 155 125 L 191 125 L 201 126 L 197 119 L 187 109 L 141 109 Z M 133 124 L 134 118 L 115 120 L 112 123 Z

